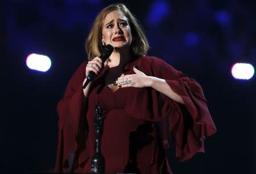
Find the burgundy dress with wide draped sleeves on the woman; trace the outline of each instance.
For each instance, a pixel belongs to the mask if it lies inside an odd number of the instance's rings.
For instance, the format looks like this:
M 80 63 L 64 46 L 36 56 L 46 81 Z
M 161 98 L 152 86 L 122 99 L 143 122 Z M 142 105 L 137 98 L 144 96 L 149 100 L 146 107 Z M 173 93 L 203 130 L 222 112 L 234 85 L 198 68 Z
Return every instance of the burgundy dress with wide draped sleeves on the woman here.
M 204 140 L 216 132 L 201 86 L 156 57 L 130 60 L 124 74 L 134 74 L 133 66 L 148 76 L 166 80 L 185 105 L 152 88 L 119 88 L 113 92 L 104 83 L 108 65 L 98 75 L 88 102 L 82 92 L 87 62 L 73 74 L 57 106 L 59 142 L 55 172 L 90 172 L 94 153 L 93 118 L 101 105 L 104 130 L 101 151 L 107 173 L 172 173 L 164 148 L 168 140 L 176 145 L 176 158 L 184 161 L 204 152 Z

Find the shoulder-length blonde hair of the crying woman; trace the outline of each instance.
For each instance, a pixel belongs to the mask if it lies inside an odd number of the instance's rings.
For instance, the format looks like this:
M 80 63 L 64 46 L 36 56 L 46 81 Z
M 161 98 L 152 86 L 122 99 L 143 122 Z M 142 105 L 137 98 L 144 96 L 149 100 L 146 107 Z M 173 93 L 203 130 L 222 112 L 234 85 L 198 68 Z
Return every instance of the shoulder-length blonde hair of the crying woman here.
M 88 54 L 89 60 L 94 59 L 94 57 L 96 56 L 100 56 L 103 49 L 101 44 L 102 24 L 106 18 L 106 15 L 114 10 L 121 11 L 123 15 L 125 15 L 128 19 L 128 23 L 131 27 L 131 35 L 133 37 L 130 45 L 131 53 L 135 57 L 141 57 L 146 55 L 147 53 L 149 46 L 143 28 L 141 27 L 135 16 L 125 5 L 123 5 L 122 3 L 117 3 L 105 7 L 105 9 L 103 9 L 94 20 L 93 26 L 85 42 L 85 49 Z

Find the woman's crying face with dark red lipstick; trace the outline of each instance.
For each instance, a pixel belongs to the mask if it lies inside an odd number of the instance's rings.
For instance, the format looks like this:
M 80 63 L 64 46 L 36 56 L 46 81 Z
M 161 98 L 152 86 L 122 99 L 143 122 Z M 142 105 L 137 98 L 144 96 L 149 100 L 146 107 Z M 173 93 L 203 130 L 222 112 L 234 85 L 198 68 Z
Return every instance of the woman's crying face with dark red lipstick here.
M 102 26 L 102 38 L 115 48 L 129 48 L 131 45 L 131 28 L 128 19 L 121 11 L 114 10 L 106 15 Z

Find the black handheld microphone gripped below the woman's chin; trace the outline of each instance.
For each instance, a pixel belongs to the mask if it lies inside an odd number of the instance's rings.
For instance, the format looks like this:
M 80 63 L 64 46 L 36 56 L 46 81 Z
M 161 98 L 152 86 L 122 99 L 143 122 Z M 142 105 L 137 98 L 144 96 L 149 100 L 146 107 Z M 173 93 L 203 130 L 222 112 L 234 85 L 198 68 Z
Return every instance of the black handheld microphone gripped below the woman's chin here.
M 109 58 L 109 56 L 112 54 L 113 50 L 114 50 L 114 47 L 113 47 L 112 45 L 110 45 L 110 44 L 108 44 L 108 45 L 106 45 L 106 46 L 104 47 L 104 49 L 103 49 L 103 51 L 102 51 L 102 53 L 101 53 L 101 55 L 100 55 L 100 58 L 101 58 L 101 60 L 102 60 L 102 64 L 104 64 L 105 61 L 106 61 L 106 59 Z M 86 82 L 84 83 L 84 85 L 82 86 L 83 89 L 85 89 L 86 86 L 89 84 L 89 82 L 93 80 L 93 78 L 95 77 L 95 75 L 96 75 L 96 74 L 95 74 L 93 71 L 90 71 L 90 72 L 89 72 L 89 75 L 87 76 L 87 80 L 86 80 Z

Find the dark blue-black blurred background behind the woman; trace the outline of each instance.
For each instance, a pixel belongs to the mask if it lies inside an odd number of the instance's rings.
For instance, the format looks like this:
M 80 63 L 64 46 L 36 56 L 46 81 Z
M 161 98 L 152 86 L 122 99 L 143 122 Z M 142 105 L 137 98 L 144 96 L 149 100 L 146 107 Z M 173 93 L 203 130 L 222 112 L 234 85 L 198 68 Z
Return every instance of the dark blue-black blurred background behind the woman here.
M 150 42 L 148 55 L 170 63 L 203 86 L 218 132 L 205 154 L 179 163 L 174 174 L 256 173 L 256 82 L 235 80 L 236 62 L 256 63 L 256 1 L 173 0 L 1 1 L 1 173 L 52 172 L 57 102 L 86 60 L 84 40 L 99 11 L 124 2 Z M 46 73 L 26 66 L 30 53 L 47 55 Z

